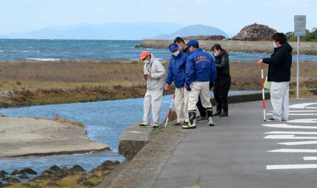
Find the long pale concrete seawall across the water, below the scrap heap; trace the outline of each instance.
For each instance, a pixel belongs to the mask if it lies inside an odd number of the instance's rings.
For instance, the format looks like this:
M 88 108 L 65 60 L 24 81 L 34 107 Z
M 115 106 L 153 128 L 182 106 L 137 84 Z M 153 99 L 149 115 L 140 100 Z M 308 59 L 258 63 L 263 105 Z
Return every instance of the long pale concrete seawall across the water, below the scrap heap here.
M 142 44 L 137 45 L 139 48 L 157 48 L 167 49 L 173 40 L 142 40 Z M 188 40 L 185 40 L 187 43 Z M 269 41 L 198 41 L 199 47 L 206 51 L 211 51 L 214 44 L 220 44 L 223 49 L 233 52 L 246 53 L 273 53 L 273 42 Z M 293 54 L 297 54 L 297 42 L 289 42 L 293 47 Z M 300 54 L 317 55 L 317 42 L 301 42 Z

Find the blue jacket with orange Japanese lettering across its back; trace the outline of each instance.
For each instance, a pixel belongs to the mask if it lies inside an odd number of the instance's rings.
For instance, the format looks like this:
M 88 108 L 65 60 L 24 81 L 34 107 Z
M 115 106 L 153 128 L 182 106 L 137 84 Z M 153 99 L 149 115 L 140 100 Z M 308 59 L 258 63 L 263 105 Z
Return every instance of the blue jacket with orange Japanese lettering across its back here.
M 215 62 L 211 55 L 201 48 L 191 51 L 186 60 L 185 83 L 190 86 L 193 81 L 214 82 L 217 78 Z

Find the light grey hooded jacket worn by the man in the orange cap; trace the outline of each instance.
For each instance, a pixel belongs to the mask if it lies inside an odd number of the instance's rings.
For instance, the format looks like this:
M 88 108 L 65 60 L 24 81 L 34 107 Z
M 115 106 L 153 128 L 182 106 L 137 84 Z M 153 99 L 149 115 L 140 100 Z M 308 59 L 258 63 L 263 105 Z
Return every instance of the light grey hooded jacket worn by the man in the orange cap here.
M 151 60 L 144 65 L 143 74 L 151 74 L 152 78 L 146 78 L 146 88 L 148 91 L 155 91 L 164 87 L 162 77 L 165 76 L 165 68 L 162 63 L 151 54 Z

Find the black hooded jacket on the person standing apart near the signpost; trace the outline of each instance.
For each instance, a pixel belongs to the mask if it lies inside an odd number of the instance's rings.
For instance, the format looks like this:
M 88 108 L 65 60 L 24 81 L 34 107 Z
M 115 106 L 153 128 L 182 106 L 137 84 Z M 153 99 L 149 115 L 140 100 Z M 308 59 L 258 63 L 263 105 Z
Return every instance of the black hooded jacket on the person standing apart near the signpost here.
M 293 48 L 288 43 L 274 49 L 271 58 L 264 58 L 263 63 L 268 65 L 268 81 L 290 81 Z

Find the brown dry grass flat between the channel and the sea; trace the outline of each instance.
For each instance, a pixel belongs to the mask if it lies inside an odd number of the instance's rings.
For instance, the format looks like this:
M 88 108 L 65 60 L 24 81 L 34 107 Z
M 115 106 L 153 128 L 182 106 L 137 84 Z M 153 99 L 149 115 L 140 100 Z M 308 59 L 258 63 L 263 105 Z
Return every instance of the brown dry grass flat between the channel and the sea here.
M 167 70 L 168 62 L 162 61 Z M 143 97 L 143 62 L 60 61 L 0 63 L 0 107 L 16 107 Z M 264 75 L 268 65 L 264 64 Z M 316 62 L 301 62 L 300 84 L 317 87 Z M 256 61 L 230 62 L 230 90 L 260 90 L 261 68 Z M 296 62 L 290 89 L 296 87 Z M 163 78 L 163 80 L 165 77 Z M 172 94 L 175 85 L 164 94 Z

